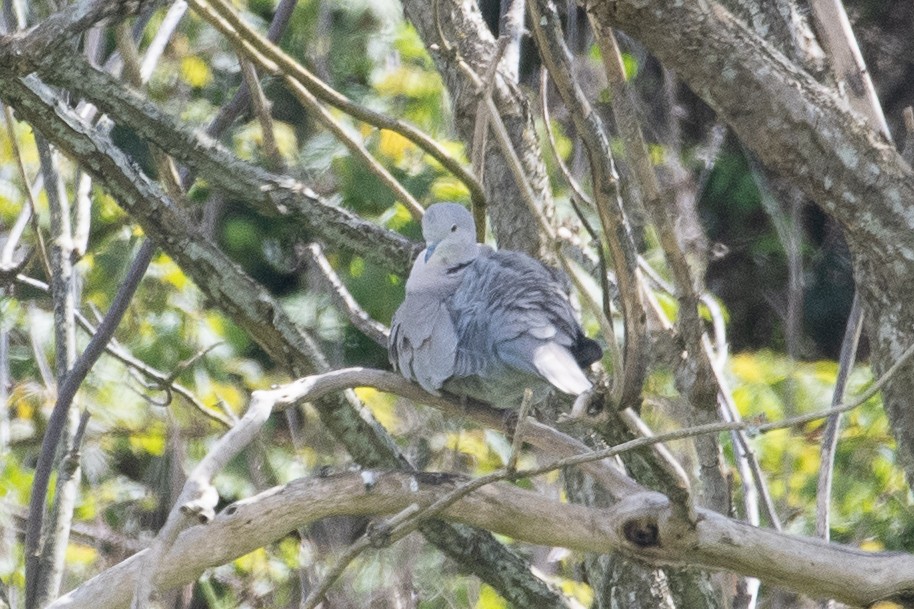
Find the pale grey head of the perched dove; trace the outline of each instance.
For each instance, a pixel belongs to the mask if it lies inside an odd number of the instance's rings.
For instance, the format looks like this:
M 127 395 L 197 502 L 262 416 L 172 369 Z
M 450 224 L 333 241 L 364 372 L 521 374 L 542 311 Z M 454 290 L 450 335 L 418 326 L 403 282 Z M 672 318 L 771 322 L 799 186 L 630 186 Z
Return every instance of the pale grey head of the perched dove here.
M 478 255 L 473 216 L 457 203 L 435 203 L 422 217 L 425 261 L 437 259 L 444 266 L 463 264 Z

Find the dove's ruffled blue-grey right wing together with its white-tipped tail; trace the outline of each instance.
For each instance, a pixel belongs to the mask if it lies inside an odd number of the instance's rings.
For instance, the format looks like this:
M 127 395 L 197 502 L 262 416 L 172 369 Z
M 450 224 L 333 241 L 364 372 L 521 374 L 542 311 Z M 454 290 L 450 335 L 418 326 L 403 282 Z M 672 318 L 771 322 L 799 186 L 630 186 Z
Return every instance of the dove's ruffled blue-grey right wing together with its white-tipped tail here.
M 584 337 L 557 271 L 518 252 L 480 256 L 449 306 L 458 340 L 455 377 L 505 381 L 520 373 L 563 393 L 590 389 L 581 365 L 595 361 L 600 350 Z

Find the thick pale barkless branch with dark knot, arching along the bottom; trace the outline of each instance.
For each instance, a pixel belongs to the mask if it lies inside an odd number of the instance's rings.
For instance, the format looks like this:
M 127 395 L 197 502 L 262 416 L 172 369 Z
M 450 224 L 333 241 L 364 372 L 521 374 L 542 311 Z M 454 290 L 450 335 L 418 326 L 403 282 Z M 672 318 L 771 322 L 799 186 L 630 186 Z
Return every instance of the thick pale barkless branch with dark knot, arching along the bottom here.
M 362 472 L 302 479 L 226 508 L 212 523 L 178 537 L 156 577 L 161 588 L 191 582 L 320 518 L 380 515 L 411 504 L 428 506 L 462 479 L 447 474 Z M 901 599 L 914 588 L 914 556 L 869 553 L 817 539 L 782 535 L 704 512 L 682 536 L 669 503 L 655 493 L 633 495 L 609 509 L 559 503 L 499 483 L 448 507 L 449 520 L 514 539 L 583 552 L 623 552 L 653 563 L 700 565 L 758 576 L 778 586 L 855 606 Z M 50 605 L 114 609 L 129 603 L 144 553 L 105 571 Z M 802 566 L 803 568 L 799 568 Z

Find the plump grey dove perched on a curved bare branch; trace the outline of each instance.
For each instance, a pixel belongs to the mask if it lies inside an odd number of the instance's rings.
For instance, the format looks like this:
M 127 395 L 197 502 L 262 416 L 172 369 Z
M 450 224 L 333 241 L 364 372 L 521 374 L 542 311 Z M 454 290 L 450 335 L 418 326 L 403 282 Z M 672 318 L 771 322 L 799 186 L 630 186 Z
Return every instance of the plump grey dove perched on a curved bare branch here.
M 391 324 L 394 369 L 430 393 L 499 407 L 518 405 L 528 387 L 536 401 L 550 388 L 591 388 L 582 368 L 603 353 L 584 336 L 563 273 L 476 243 L 473 218 L 456 203 L 430 206 L 422 235 L 426 248 Z

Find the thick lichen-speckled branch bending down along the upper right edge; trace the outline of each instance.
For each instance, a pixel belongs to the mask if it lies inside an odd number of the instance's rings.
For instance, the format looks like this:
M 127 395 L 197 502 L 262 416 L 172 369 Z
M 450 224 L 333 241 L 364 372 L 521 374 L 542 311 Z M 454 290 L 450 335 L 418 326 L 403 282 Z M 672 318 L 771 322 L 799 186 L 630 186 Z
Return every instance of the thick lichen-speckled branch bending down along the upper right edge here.
M 592 19 L 643 42 L 741 141 L 847 236 L 877 371 L 914 338 L 914 174 L 895 148 L 718 4 L 587 3 Z M 701 61 L 695 61 L 701 57 Z M 914 483 L 914 369 L 886 387 L 900 461 Z

